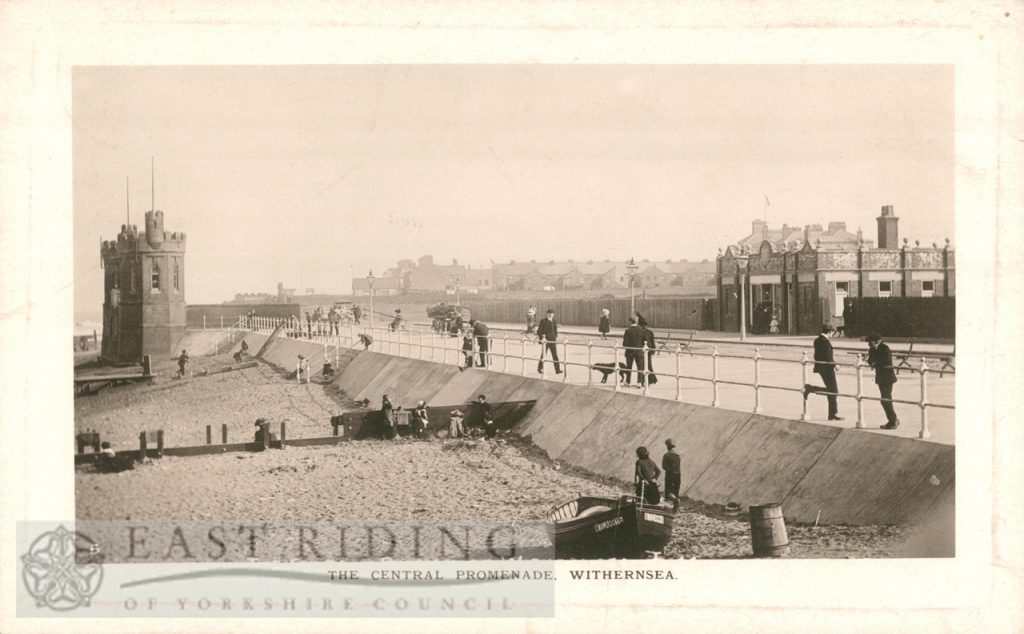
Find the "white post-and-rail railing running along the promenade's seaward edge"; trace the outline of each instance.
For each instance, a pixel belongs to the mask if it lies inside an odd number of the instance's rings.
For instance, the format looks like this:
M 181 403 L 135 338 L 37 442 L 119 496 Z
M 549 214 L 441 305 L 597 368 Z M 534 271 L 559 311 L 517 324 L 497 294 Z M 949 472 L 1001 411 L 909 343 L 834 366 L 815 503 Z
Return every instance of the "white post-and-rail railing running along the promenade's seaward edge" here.
M 433 329 L 419 325 L 413 325 L 412 328 L 399 328 L 397 330 L 391 330 L 387 327 L 370 329 L 367 326 L 356 326 L 353 324 L 339 324 L 332 328 L 332 325 L 327 321 L 319 323 L 312 322 L 310 325 L 303 323 L 301 320 L 285 320 L 256 315 L 241 319 L 238 322 L 238 326 L 243 329 L 253 330 L 262 334 L 269 334 L 276 328 L 282 327 L 281 336 L 312 340 L 322 343 L 324 345 L 325 358 L 329 357 L 328 347 L 334 347 L 336 365 L 340 356 L 340 348 L 359 349 L 361 347 L 359 340 L 360 334 L 369 335 L 373 338 L 373 347 L 377 352 L 383 352 L 396 356 L 406 356 L 409 358 L 431 361 L 435 363 L 452 364 L 455 366 L 462 366 L 465 363 L 461 337 L 455 337 L 449 333 L 438 333 Z M 509 337 L 506 332 L 502 337 L 488 336 L 487 341 L 488 351 L 484 353 L 487 361 L 486 370 L 526 376 L 528 373 L 527 368 L 540 363 L 540 367 L 542 369 L 540 374 L 542 378 L 568 383 L 570 382 L 570 368 L 584 369 L 587 374 L 586 380 L 579 378 L 579 373 L 577 373 L 577 380 L 571 382 L 579 385 L 600 386 L 603 383 L 594 381 L 594 372 L 598 371 L 595 364 L 610 363 L 612 364 L 612 367 L 609 379 L 613 379 L 610 388 L 615 391 L 626 388 L 626 384 L 620 377 L 620 372 L 624 370 L 620 369 L 617 364 L 624 361 L 625 351 L 630 348 L 620 345 L 614 340 L 598 340 L 595 344 L 594 340 L 591 338 L 588 338 L 585 342 L 572 341 L 567 337 L 559 338 L 557 341 L 558 349 L 561 352 L 559 364 L 564 368 L 564 371 L 554 377 L 549 374 L 549 369 L 554 362 L 548 357 L 547 354 L 545 354 L 544 357 L 541 356 L 540 350 L 543 350 L 544 348 L 541 346 L 536 337 L 526 337 L 525 335 L 520 335 L 519 337 Z M 501 345 L 496 346 L 498 343 Z M 610 345 L 608 345 L 609 343 Z M 801 420 L 810 420 L 808 400 L 803 397 L 803 392 L 804 385 L 811 382 L 811 368 L 815 362 L 808 355 L 806 350 L 802 352 L 801 358 L 792 360 L 763 356 L 760 352 L 760 348 L 758 347 L 754 348 L 753 354 L 722 352 L 719 350 L 719 345 L 720 342 L 714 342 L 710 353 L 695 350 L 693 349 L 693 346 L 687 346 L 684 349 L 680 343 L 677 343 L 674 349 L 662 348 L 656 350 L 662 358 L 664 358 L 666 354 L 669 355 L 669 357 L 674 362 L 674 371 L 666 373 L 664 370 L 651 371 L 650 369 L 645 368 L 643 371 L 645 380 L 643 381 L 642 386 L 640 386 L 640 389 L 645 395 L 649 394 L 652 389 L 649 378 L 651 375 L 656 375 L 659 381 L 674 381 L 674 398 L 676 400 L 688 400 L 689 403 L 695 403 L 692 399 L 683 398 L 684 386 L 687 382 L 708 384 L 711 386 L 712 392 L 710 405 L 718 408 L 723 407 L 722 399 L 720 398 L 722 391 L 721 388 L 723 386 L 749 387 L 753 391 L 753 403 L 748 406 L 750 409 L 746 411 L 751 411 L 756 414 L 760 414 L 764 411 L 762 404 L 762 396 L 764 392 L 793 392 L 798 394 L 801 399 Z M 725 343 L 722 345 L 731 344 Z M 536 346 L 538 352 L 527 353 L 528 346 Z M 643 353 L 644 358 L 648 357 L 647 352 L 649 350 L 646 345 L 643 348 L 632 349 L 640 350 Z M 440 360 L 438 360 L 438 352 Z M 475 357 L 474 364 L 478 364 L 479 350 L 476 349 L 475 345 L 473 353 Z M 710 363 L 710 376 L 684 373 L 684 357 L 687 357 L 688 363 L 690 363 L 689 360 L 703 360 L 706 363 Z M 751 371 L 752 379 L 740 380 L 723 376 L 720 368 L 722 363 L 750 363 L 749 370 Z M 800 382 L 800 385 L 792 386 L 766 382 L 764 379 L 770 378 L 772 374 L 771 372 L 766 373 L 766 366 L 775 367 L 776 365 L 785 365 L 790 368 L 799 365 L 803 379 Z M 872 369 L 870 369 L 864 362 L 863 355 L 861 354 L 856 355 L 856 363 L 837 362 L 833 365 L 836 366 L 837 371 L 841 368 L 849 368 L 854 371 L 856 377 L 856 392 L 849 393 L 839 391 L 836 392 L 836 395 L 840 398 L 852 398 L 856 401 L 857 415 L 854 425 L 857 429 L 865 429 L 867 427 L 864 418 L 865 401 L 881 404 L 883 400 L 879 396 L 872 396 L 866 393 L 866 390 L 874 389 Z M 938 366 L 934 360 L 933 365 Z M 911 374 L 915 374 L 918 376 L 916 383 L 919 397 L 916 400 L 895 397 L 887 400 L 892 403 L 894 406 L 904 405 L 918 408 L 921 417 L 921 428 L 918 432 L 918 437 L 930 438 L 932 437 L 932 431 L 929 426 L 929 410 L 945 410 L 951 412 L 955 410 L 955 407 L 951 404 L 933 403 L 929 400 L 929 376 L 938 373 L 939 370 L 929 367 L 926 356 L 920 357 L 920 363 L 916 367 L 903 367 L 901 369 L 904 372 L 910 372 Z M 732 370 L 735 370 L 735 368 L 733 367 Z M 633 370 L 633 373 L 636 373 L 636 369 Z M 945 374 L 955 375 L 955 372 L 946 369 Z M 663 388 L 656 389 L 659 392 L 657 395 L 664 394 Z M 827 394 L 827 392 L 816 393 L 821 395 Z

